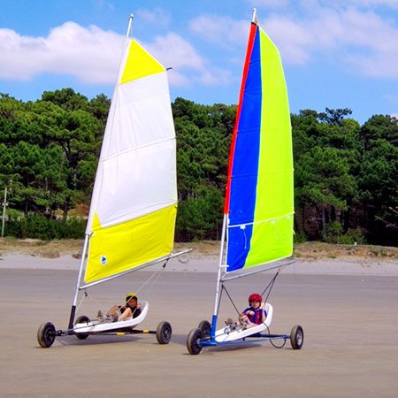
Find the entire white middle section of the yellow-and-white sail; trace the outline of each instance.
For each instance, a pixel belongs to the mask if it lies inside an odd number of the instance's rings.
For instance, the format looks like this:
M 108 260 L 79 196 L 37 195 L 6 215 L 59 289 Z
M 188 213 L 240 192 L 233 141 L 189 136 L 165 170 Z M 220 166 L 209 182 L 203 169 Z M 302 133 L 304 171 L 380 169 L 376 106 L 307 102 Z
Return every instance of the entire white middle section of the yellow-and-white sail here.
M 100 225 L 107 227 L 177 203 L 175 134 L 166 73 L 120 85 L 115 96 L 87 233 L 92 233 L 95 213 Z

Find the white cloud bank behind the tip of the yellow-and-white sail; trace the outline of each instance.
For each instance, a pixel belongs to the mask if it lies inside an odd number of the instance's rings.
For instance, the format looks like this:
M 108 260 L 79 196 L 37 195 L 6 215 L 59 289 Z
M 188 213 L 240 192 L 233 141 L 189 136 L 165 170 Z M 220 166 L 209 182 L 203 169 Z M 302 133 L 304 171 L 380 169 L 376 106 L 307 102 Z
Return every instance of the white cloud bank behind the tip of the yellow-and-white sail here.
M 53 28 L 48 37 L 0 29 L 0 79 L 26 81 L 38 74 L 54 73 L 74 76 L 85 84 L 114 84 L 124 40 L 123 35 L 74 22 Z M 189 86 L 194 80 L 223 85 L 228 81 L 226 71 L 212 67 L 178 34 L 157 36 L 144 47 L 173 68 L 169 73 L 172 85 Z

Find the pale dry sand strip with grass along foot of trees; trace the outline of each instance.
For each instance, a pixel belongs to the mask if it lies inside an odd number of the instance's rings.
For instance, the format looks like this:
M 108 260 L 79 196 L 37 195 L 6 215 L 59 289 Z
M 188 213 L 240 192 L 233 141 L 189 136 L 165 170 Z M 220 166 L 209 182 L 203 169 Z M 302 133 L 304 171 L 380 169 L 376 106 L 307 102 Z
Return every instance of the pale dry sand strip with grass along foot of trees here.
M 0 269 L 48 269 L 79 270 L 81 241 L 72 243 L 23 241 L 22 244 L 10 244 L 0 239 Z M 341 245 L 342 246 L 342 245 Z M 295 264 L 284 268 L 283 273 L 326 274 L 326 275 L 389 275 L 398 276 L 398 248 L 376 249 L 345 248 L 333 249 L 325 253 L 325 247 L 333 245 L 300 245 L 295 251 Z M 365 247 L 364 247 L 365 248 Z M 204 241 L 201 243 L 176 244 L 175 251 L 192 249 L 184 256 L 172 258 L 167 272 L 217 272 L 219 243 Z M 155 266 L 156 269 L 163 264 Z M 150 268 L 152 271 L 153 268 Z

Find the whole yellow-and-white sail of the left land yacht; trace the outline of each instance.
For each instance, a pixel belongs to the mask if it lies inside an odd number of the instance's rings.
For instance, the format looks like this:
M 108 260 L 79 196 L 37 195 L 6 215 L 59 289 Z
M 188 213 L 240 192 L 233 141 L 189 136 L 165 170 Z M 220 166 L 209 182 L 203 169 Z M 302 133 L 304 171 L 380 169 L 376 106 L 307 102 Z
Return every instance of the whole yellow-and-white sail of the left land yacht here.
M 128 38 L 88 216 L 85 281 L 170 255 L 176 212 L 176 143 L 165 67 Z

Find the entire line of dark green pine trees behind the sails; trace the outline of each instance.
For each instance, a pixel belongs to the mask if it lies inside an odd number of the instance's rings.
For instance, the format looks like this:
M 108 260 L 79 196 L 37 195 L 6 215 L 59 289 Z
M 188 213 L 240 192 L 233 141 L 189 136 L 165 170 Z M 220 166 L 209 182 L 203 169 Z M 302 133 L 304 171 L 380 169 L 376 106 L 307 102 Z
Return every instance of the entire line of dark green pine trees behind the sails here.
M 71 210 L 87 208 L 109 106 L 106 96 L 88 100 L 72 88 L 44 92 L 26 103 L 0 94 L 0 189 L 8 192 L 7 232 L 33 235 L 35 224 L 46 229 L 42 218 L 54 223 L 58 215 L 65 223 Z M 176 239 L 219 239 L 236 105 L 177 98 L 172 112 Z M 291 115 L 295 241 L 396 246 L 398 121 L 374 115 L 361 126 L 350 114 L 326 108 Z M 40 222 L 23 229 L 21 223 L 27 226 L 33 216 Z M 80 230 L 82 236 L 84 226 Z

